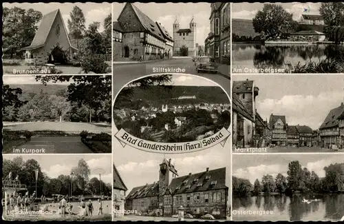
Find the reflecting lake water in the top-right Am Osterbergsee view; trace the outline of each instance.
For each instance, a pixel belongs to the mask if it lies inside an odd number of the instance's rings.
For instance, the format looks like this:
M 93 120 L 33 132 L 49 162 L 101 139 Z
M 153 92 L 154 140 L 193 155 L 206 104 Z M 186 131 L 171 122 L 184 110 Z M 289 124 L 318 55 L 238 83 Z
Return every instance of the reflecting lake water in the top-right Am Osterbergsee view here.
M 232 68 L 244 69 L 288 69 L 288 63 L 304 65 L 306 61 L 318 63 L 327 57 L 334 57 L 335 48 L 343 50 L 344 46 L 334 46 L 325 44 L 283 44 L 283 45 L 261 45 L 250 43 L 233 43 Z

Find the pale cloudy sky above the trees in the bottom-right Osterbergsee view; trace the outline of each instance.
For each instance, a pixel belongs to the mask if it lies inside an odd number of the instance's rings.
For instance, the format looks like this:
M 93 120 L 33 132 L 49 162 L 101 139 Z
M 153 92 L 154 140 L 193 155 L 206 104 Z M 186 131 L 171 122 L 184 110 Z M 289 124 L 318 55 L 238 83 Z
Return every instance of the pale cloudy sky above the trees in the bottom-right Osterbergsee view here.
M 288 164 L 296 160 L 310 172 L 324 177 L 323 168 L 331 163 L 343 163 L 344 154 L 233 154 L 233 176 L 249 179 L 252 184 L 266 174 L 274 178 L 278 173 L 287 176 Z

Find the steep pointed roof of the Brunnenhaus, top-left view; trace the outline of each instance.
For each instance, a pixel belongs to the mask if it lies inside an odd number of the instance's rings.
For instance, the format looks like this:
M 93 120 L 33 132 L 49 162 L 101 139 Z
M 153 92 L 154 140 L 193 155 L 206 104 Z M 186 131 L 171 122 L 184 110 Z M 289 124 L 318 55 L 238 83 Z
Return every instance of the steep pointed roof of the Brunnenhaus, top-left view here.
M 47 37 L 50 34 L 50 30 L 52 29 L 52 25 L 54 24 L 56 17 L 61 17 L 63 28 L 65 30 L 65 33 L 67 34 L 68 43 L 72 48 L 74 48 L 70 43 L 67 29 L 65 28 L 65 23 L 63 22 L 62 14 L 60 10 L 57 9 L 43 16 L 41 24 L 39 25 L 39 29 L 34 35 L 34 39 L 32 40 L 30 46 L 23 48 L 23 50 L 30 50 L 43 47 L 43 45 L 45 45 L 45 42 L 47 41 Z

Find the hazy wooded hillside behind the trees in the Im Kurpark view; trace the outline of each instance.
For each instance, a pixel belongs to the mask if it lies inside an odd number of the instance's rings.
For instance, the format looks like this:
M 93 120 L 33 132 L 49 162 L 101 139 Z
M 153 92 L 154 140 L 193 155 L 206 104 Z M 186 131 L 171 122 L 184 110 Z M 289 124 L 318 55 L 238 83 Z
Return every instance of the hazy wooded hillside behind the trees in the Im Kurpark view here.
M 41 90 L 43 90 L 43 92 L 55 94 L 59 90 L 67 89 L 67 85 L 56 85 L 56 84 L 43 85 L 37 82 L 37 84 L 26 84 L 26 85 L 11 84 L 10 88 L 21 88 L 21 90 L 23 90 L 23 94 L 29 93 L 29 92 L 39 93 L 41 92 Z

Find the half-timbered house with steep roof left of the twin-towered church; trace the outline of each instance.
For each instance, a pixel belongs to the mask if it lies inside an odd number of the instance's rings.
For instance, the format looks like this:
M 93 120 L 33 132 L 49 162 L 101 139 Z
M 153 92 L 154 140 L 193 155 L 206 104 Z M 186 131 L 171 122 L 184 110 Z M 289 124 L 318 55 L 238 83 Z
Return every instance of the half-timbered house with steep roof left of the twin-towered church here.
M 114 61 L 170 58 L 173 38 L 161 23 L 150 19 L 133 3 L 126 3 L 114 22 Z

